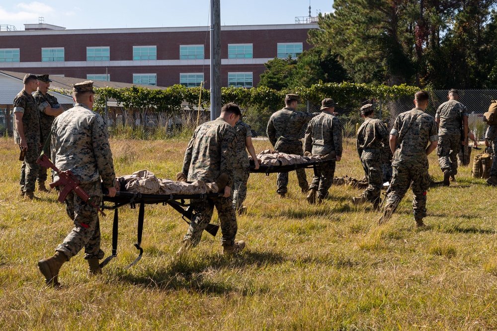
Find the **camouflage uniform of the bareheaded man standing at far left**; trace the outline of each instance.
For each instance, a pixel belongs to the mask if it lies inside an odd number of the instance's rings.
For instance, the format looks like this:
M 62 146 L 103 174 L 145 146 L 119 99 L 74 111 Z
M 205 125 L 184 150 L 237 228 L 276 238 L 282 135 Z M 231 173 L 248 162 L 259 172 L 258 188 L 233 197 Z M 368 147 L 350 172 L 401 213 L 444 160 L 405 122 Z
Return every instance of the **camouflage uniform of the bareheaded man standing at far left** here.
M 23 192 L 33 192 L 40 166 L 36 160 L 40 156 L 40 112 L 33 96 L 25 90 L 20 91 L 13 102 L 14 113 L 23 113 L 22 126 L 28 148 L 21 165 L 20 186 Z M 14 141 L 20 144 L 20 137 L 14 129 Z

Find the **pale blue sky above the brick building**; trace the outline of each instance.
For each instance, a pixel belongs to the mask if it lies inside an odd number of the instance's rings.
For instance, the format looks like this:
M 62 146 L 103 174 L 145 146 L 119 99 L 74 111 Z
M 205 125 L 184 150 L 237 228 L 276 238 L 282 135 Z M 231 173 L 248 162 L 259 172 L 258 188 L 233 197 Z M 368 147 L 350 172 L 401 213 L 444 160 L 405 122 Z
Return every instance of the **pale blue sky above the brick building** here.
M 221 0 L 221 25 L 292 24 L 296 16 L 332 11 L 332 0 Z M 67 29 L 209 25 L 210 0 L 1 1 L 0 24 L 24 30 L 25 23 Z

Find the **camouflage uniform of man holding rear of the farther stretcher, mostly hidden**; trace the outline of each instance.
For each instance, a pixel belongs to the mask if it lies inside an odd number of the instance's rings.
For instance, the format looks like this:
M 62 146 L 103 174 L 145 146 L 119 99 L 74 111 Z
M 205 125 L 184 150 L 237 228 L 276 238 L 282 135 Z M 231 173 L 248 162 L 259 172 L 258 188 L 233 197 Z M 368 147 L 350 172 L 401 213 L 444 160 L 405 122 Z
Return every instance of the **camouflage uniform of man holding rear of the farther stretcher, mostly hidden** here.
M 239 120 L 235 124 L 235 131 L 237 132 L 237 146 L 236 158 L 233 164 L 234 169 L 234 186 L 233 186 L 233 208 L 238 210 L 242 207 L 245 198 L 247 197 L 247 181 L 250 175 L 247 156 L 247 146 L 245 139 L 252 136 L 250 126 Z

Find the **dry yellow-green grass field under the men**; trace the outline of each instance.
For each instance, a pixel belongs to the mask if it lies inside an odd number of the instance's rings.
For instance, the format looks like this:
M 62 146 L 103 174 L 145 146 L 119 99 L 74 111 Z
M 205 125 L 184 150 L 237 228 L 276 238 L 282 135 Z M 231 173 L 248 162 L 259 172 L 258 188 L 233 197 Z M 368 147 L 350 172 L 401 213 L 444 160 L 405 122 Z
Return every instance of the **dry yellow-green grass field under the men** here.
M 149 169 L 173 178 L 186 143 L 113 140 L 117 175 Z M 17 157 L 13 142 L 0 139 L 0 330 L 497 329 L 497 195 L 471 179 L 469 167 L 451 187 L 429 190 L 423 230 L 415 228 L 411 191 L 378 227 L 377 212 L 351 206 L 359 190 L 332 187 L 324 204 L 309 206 L 295 173 L 281 200 L 275 174 L 252 174 L 237 237 L 248 247 L 233 258 L 221 255 L 219 235 L 205 233 L 176 258 L 186 224 L 170 207 L 147 205 L 144 257 L 124 269 L 137 254 L 137 210 L 123 207 L 118 257 L 88 278 L 80 253 L 54 290 L 36 262 L 53 254 L 71 221 L 55 193 L 18 198 Z M 342 160 L 335 176 L 362 177 L 354 141 Z M 434 155 L 430 164 L 441 180 Z M 111 215 L 101 229 L 109 254 Z

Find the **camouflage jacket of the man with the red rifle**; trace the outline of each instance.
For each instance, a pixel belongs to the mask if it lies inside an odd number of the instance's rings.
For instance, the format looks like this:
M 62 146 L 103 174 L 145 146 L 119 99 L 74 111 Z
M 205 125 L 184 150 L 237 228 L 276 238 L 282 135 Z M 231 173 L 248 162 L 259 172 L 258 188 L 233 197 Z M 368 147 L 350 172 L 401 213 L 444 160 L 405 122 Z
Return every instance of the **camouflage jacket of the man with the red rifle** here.
M 83 184 L 101 179 L 104 187 L 112 187 L 116 175 L 108 134 L 103 118 L 77 103 L 54 121 L 52 160 L 60 170 L 71 170 Z

